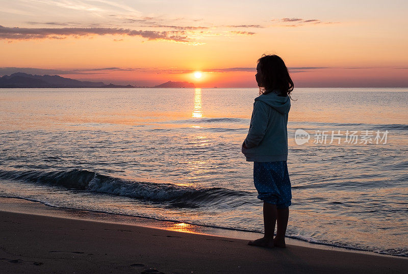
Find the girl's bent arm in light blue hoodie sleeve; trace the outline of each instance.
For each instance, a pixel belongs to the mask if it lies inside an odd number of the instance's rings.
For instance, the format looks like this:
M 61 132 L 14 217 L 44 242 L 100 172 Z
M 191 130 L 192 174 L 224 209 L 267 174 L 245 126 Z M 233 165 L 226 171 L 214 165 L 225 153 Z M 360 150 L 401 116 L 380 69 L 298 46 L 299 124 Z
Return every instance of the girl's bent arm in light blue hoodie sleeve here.
M 255 101 L 253 104 L 253 112 L 251 124 L 249 126 L 248 135 L 245 138 L 245 145 L 251 148 L 259 145 L 265 136 L 266 127 L 268 125 L 269 106 L 261 101 Z

